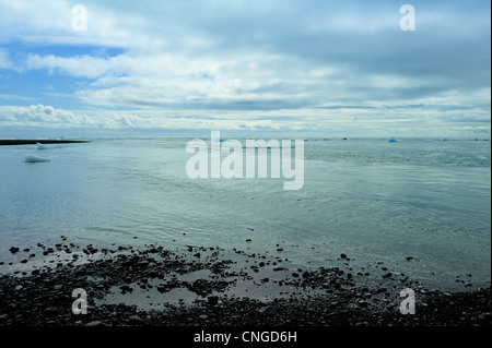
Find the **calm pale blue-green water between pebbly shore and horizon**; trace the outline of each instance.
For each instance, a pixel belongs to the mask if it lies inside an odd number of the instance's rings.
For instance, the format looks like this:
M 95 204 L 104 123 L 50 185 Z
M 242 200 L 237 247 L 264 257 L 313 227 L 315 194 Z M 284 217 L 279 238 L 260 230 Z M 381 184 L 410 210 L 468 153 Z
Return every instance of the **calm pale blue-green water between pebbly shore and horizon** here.
M 190 140 L 0 146 L 0 261 L 11 245 L 67 236 L 271 255 L 281 248 L 307 267 L 344 253 L 434 288 L 462 286 L 457 277 L 490 284 L 489 142 L 309 139 L 304 185 L 285 191 L 284 178 L 189 178 Z M 50 161 L 24 163 L 30 155 Z

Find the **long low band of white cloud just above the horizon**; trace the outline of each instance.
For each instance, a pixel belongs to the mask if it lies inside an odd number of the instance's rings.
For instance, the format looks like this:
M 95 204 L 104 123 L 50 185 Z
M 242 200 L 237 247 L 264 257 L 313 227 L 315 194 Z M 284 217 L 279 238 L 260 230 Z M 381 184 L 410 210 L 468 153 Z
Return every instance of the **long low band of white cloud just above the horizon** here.
M 0 127 L 77 128 L 93 130 L 221 130 L 276 132 L 317 136 L 477 136 L 490 134 L 490 115 L 480 110 L 440 112 L 419 108 L 283 111 L 63 110 L 44 105 L 0 107 Z M 449 120 L 453 120 L 449 122 Z

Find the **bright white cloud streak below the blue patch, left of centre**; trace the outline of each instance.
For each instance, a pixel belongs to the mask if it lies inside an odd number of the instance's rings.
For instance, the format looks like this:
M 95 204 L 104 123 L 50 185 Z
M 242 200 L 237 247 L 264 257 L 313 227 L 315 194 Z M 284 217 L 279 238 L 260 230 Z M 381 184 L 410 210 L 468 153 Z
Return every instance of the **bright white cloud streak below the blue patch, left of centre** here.
M 290 76 L 279 79 L 279 67 L 291 65 Z M 224 61 L 213 57 L 178 55 L 109 58 L 30 55 L 22 70 L 46 69 L 50 74 L 93 79 L 77 96 L 86 105 L 117 107 L 179 106 L 194 103 L 268 100 L 305 94 L 307 83 L 319 83 L 328 69 L 315 73 L 284 57 L 250 53 Z M 320 72 L 324 72 L 320 74 Z M 279 85 L 288 89 L 276 91 Z

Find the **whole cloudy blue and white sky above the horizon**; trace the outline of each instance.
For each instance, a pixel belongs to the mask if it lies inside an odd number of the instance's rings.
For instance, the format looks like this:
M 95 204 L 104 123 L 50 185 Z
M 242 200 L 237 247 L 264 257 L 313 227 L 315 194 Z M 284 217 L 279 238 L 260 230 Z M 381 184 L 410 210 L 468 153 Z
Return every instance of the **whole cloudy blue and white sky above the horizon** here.
M 405 4 L 414 9 L 413 29 L 402 29 Z M 0 137 L 27 130 L 490 137 L 490 7 L 0 0 Z

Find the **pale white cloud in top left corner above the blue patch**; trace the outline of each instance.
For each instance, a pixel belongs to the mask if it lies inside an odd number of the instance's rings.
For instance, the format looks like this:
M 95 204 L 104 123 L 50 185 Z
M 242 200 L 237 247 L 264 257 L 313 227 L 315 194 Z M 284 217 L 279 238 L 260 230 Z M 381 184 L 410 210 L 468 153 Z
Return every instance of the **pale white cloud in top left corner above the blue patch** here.
M 145 47 L 153 45 L 137 27 L 145 25 L 137 13 L 105 7 L 99 1 L 83 1 L 87 10 L 87 31 L 72 27 L 72 7 L 66 0 L 0 1 L 0 43 L 22 40 L 44 45 L 101 45 Z M 159 38 L 155 41 L 160 41 Z

